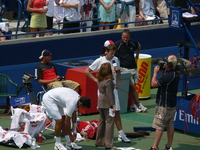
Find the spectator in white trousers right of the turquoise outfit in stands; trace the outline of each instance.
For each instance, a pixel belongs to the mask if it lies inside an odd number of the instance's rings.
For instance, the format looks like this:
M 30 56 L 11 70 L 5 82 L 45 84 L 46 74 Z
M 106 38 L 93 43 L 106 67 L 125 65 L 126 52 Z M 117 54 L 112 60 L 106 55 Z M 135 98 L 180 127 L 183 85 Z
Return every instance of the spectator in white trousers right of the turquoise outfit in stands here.
M 136 19 L 135 0 L 119 0 L 117 3 L 117 17 L 119 17 L 122 22 L 134 22 Z M 124 27 L 124 25 L 122 25 L 122 27 Z M 135 24 L 128 24 L 128 27 L 135 27 Z

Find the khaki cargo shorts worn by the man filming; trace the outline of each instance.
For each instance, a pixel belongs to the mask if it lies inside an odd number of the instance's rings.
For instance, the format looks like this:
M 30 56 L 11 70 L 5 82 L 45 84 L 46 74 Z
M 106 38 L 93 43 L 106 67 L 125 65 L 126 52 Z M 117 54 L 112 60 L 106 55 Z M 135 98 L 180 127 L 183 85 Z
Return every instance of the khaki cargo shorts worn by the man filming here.
M 176 107 L 158 106 L 153 120 L 153 128 L 164 130 L 165 127 L 174 127 Z

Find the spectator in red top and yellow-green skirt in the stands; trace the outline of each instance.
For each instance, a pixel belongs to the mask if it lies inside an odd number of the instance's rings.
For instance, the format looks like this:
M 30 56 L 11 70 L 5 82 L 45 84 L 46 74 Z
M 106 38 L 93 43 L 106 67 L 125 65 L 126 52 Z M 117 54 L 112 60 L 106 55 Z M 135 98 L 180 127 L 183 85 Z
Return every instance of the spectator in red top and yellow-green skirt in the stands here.
M 48 2 L 46 0 L 28 0 L 27 11 L 32 12 L 30 28 L 31 32 L 46 31 L 47 20 L 46 13 Z M 39 36 L 44 36 L 45 33 L 39 33 Z M 36 34 L 32 34 L 32 37 L 36 37 Z

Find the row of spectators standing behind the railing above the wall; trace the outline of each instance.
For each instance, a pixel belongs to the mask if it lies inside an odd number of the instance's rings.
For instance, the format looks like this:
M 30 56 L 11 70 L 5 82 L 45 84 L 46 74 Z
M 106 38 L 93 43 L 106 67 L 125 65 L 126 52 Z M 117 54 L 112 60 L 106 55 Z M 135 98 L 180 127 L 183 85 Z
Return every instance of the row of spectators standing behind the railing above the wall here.
M 112 29 L 113 26 L 105 25 L 117 23 L 119 20 L 122 23 L 127 22 L 122 27 L 135 27 L 153 23 L 152 21 L 133 23 L 135 21 L 168 17 L 165 0 L 44 0 L 43 3 L 47 7 L 41 5 L 41 8 L 37 8 L 37 0 L 29 0 L 27 10 L 32 12 L 30 25 L 32 31 L 41 31 L 40 27 L 33 28 L 32 25 L 38 21 L 33 16 L 41 16 L 41 14 L 46 14 L 46 19 L 42 21 L 42 23 L 46 22 L 46 30 L 58 27 L 59 23 L 62 25 L 59 28 L 63 29 L 63 34 Z M 45 11 L 46 8 L 48 8 L 47 11 Z M 94 18 L 100 18 L 100 20 L 97 22 L 90 20 Z M 76 29 L 76 27 L 92 25 L 104 26 L 100 26 L 98 29 Z M 51 35 L 51 33 L 47 35 Z M 40 36 L 44 36 L 44 34 L 40 34 Z

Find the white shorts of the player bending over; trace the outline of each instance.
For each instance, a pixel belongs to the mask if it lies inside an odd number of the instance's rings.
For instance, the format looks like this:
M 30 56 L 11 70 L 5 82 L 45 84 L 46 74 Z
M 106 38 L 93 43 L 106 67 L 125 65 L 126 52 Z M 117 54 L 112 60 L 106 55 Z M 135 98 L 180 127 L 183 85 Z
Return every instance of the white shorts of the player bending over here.
M 50 118 L 53 118 L 55 120 L 62 119 L 62 116 L 64 116 L 63 107 L 59 106 L 53 98 L 49 97 L 46 94 L 44 94 L 42 100 L 44 107 L 46 108 L 47 114 Z

